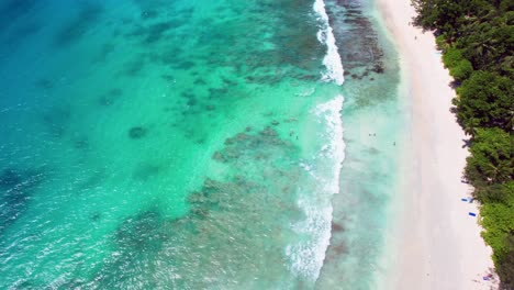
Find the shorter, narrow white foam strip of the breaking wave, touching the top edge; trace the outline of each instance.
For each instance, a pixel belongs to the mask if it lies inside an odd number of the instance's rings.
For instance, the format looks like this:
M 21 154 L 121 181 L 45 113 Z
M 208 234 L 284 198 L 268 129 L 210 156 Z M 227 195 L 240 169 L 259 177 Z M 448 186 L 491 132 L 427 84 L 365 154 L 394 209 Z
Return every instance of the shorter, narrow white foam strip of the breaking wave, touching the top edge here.
M 317 40 L 326 45 L 326 55 L 323 58 L 323 65 L 326 67 L 326 72 L 323 74 L 323 79 L 333 80 L 335 83 L 340 86 L 345 81 L 345 71 L 343 69 L 339 53 L 337 52 L 334 33 L 328 22 L 328 14 L 326 14 L 325 2 L 323 2 L 323 0 L 315 0 L 313 9 L 317 13 L 317 21 L 320 22 Z

